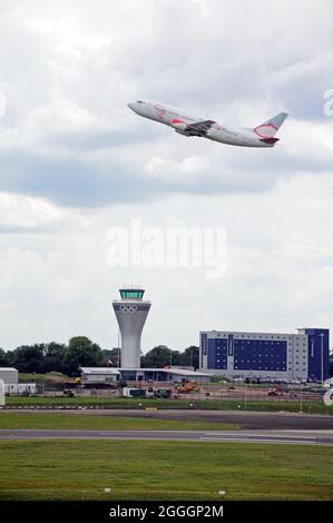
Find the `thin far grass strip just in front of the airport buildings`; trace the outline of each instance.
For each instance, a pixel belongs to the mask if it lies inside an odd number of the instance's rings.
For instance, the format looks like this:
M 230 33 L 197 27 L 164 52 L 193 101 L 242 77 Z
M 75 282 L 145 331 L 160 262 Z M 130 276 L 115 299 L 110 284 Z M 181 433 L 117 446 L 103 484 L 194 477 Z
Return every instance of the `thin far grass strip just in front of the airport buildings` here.
M 238 409 L 244 411 L 244 401 L 196 401 L 192 399 L 141 399 L 107 396 L 82 397 L 22 397 L 8 396 L 6 403 L 9 406 L 101 406 L 108 408 L 200 408 L 200 409 Z M 192 406 L 190 406 L 192 405 Z M 300 412 L 300 402 L 247 402 L 248 411 L 286 411 Z M 303 412 L 313 414 L 333 414 L 333 406 L 325 406 L 324 402 L 303 402 Z

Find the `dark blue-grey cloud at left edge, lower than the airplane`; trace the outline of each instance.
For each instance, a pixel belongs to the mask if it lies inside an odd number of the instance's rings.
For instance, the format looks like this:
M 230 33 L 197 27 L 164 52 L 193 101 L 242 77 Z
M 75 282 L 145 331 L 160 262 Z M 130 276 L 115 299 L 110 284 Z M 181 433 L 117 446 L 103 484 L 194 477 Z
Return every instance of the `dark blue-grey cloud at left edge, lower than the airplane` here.
M 2 154 L 0 159 L 1 190 L 46 197 L 63 206 L 145 200 L 154 191 L 154 182 L 136 179 L 117 162 L 99 168 L 80 160 L 40 158 L 19 151 Z

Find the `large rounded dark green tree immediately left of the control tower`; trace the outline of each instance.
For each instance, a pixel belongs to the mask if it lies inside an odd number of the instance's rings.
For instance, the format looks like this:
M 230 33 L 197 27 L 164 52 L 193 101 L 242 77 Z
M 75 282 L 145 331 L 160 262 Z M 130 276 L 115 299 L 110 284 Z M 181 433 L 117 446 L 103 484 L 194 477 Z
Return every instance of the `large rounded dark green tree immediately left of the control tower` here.
M 77 374 L 78 367 L 101 365 L 101 348 L 86 336 L 72 337 L 65 351 L 63 368 L 67 374 Z

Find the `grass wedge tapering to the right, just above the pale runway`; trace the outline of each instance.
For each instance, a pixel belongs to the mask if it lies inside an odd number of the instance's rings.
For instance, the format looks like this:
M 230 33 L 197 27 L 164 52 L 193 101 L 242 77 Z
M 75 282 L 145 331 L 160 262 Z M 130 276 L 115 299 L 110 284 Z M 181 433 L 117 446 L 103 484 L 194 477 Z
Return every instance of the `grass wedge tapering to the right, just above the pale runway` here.
M 234 431 L 233 423 L 154 420 L 84 414 L 0 413 L 1 428 L 84 428 L 89 431 Z

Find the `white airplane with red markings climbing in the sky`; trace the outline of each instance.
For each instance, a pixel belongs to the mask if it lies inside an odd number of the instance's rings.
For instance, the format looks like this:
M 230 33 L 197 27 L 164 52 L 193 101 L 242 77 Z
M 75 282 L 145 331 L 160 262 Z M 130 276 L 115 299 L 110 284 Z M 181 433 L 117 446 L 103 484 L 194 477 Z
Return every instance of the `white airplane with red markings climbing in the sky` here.
M 241 147 L 274 147 L 278 141 L 275 135 L 288 116 L 287 112 L 280 112 L 256 127 L 233 128 L 222 126 L 215 120 L 194 118 L 182 109 L 155 101 L 136 100 L 130 101 L 127 106 L 144 118 L 173 127 L 179 135 L 204 137 Z

